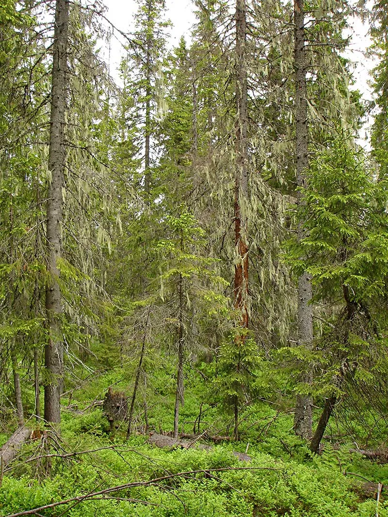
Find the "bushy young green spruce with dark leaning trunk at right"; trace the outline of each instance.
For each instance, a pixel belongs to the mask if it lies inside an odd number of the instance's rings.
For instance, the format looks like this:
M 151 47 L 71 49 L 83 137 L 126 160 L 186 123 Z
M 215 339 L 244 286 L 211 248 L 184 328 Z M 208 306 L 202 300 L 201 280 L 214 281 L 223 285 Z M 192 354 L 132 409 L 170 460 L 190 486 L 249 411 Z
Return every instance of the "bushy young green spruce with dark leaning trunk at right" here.
M 380 297 L 387 267 L 386 192 L 385 183 L 375 180 L 363 154 L 342 131 L 326 141 L 307 177 L 299 210 L 308 232 L 294 249 L 294 265 L 299 271 L 306 268 L 316 296 L 332 307 L 331 326 L 318 340 L 322 351 L 315 352 L 316 364 L 321 362 L 323 369 L 315 384 L 326 396 L 311 442 L 317 452 L 337 398 L 355 376 L 365 382 L 366 365 L 383 354 L 381 350 L 376 356 L 375 349 L 384 346 L 378 328 L 385 320 Z M 302 251 L 304 261 L 296 257 Z

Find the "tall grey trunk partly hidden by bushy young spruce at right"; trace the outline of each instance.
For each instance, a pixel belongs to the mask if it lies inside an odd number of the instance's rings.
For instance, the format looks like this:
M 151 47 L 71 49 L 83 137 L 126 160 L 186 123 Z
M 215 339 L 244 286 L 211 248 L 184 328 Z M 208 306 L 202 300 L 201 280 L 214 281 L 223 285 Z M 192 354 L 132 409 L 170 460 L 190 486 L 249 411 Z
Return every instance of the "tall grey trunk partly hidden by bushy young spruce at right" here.
M 294 2 L 295 23 L 295 103 L 296 103 L 296 183 L 300 188 L 306 188 L 306 171 L 309 168 L 308 157 L 308 119 L 307 119 L 307 85 L 306 85 L 306 47 L 304 28 L 304 0 Z M 297 193 L 297 203 L 301 203 L 302 192 Z M 304 221 L 300 221 L 297 237 L 304 237 Z M 298 345 L 307 349 L 312 346 L 312 285 L 307 271 L 298 280 L 298 316 L 297 332 Z M 309 369 L 302 374 L 301 381 L 311 384 L 312 373 Z M 312 398 L 309 395 L 296 397 L 294 430 L 297 435 L 309 439 L 312 434 Z

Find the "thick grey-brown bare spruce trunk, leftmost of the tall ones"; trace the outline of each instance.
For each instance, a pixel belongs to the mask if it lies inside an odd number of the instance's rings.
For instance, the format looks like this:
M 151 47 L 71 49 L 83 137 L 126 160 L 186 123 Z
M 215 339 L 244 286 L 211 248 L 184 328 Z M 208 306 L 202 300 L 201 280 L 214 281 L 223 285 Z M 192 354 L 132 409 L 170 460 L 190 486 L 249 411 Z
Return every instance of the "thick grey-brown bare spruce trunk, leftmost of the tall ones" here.
M 49 171 L 47 199 L 48 283 L 46 286 L 46 317 L 48 340 L 44 348 L 47 380 L 44 386 L 44 419 L 61 421 L 63 388 L 63 339 L 61 336 L 61 291 L 58 260 L 62 256 L 62 187 L 65 166 L 65 98 L 69 24 L 69 0 L 56 0 L 51 86 Z

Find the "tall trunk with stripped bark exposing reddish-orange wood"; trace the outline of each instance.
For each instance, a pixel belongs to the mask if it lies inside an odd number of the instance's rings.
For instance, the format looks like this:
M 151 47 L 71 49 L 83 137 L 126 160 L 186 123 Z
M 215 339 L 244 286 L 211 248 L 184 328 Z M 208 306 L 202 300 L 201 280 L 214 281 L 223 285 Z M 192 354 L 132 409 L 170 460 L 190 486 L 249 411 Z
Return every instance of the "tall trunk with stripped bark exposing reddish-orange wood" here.
M 234 189 L 234 242 L 237 261 L 234 266 L 234 307 L 241 314 L 240 325 L 248 328 L 248 203 L 247 166 L 247 70 L 246 70 L 246 5 L 236 1 L 236 177 Z

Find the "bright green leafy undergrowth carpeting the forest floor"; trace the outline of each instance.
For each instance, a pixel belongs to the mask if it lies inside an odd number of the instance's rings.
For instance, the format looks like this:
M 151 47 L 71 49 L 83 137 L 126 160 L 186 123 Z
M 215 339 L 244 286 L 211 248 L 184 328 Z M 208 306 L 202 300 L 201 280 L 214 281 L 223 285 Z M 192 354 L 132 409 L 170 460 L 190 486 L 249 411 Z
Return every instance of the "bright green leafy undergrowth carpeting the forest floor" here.
M 149 418 L 155 432 L 172 428 L 173 385 L 161 368 L 148 393 Z M 189 379 L 181 426 L 192 432 L 203 413 L 200 432 L 227 434 L 230 415 L 203 399 L 199 376 Z M 25 445 L 8 470 L 0 489 L 0 515 L 36 510 L 44 517 L 388 517 L 383 491 L 363 485 L 388 484 L 388 466 L 351 453 L 353 444 L 324 443 L 312 457 L 292 432 L 292 414 L 276 404 L 256 402 L 242 408 L 241 439 L 224 440 L 210 450 L 151 446 L 137 405 L 137 431 L 125 440 L 125 424 L 109 430 L 100 402 L 109 386 L 128 390 L 125 369 L 95 375 L 63 400 L 61 433 Z M 127 391 L 128 392 L 128 391 Z M 129 391 L 130 393 L 130 391 Z M 157 404 L 156 400 L 160 403 Z M 79 414 L 83 410 L 83 414 Z M 197 429 L 198 431 L 198 429 Z M 6 435 L 0 435 L 3 442 Z M 240 461 L 234 451 L 248 452 Z M 48 453 L 51 454 L 47 458 Z M 132 483 L 132 484 L 131 484 Z M 115 490 L 112 490 L 116 487 Z M 118 488 L 121 487 L 121 488 Z M 98 493 L 90 498 L 90 494 Z M 88 496 L 89 494 L 89 496 Z M 86 496 L 86 498 L 85 498 Z

